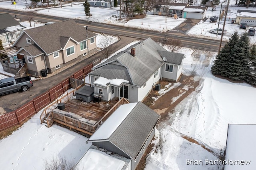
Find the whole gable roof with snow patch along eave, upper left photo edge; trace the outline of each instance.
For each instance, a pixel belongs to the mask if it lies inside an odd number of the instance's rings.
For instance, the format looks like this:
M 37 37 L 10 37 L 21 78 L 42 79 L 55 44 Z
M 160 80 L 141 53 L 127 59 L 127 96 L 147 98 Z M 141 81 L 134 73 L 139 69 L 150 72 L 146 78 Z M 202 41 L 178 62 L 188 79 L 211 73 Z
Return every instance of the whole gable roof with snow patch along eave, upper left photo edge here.
M 0 14 L 0 34 L 12 32 L 16 30 L 23 30 L 25 27 L 20 25 L 9 13 Z

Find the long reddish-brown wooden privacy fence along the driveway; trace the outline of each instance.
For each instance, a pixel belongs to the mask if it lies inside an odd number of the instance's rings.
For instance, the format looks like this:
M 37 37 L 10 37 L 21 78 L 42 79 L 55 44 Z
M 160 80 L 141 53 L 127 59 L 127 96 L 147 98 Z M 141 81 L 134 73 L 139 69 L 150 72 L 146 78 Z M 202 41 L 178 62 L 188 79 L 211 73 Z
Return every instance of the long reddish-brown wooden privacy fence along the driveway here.
M 84 75 L 90 73 L 91 68 L 92 63 L 77 71 L 71 77 L 82 79 Z M 22 105 L 15 111 L 0 115 L 0 131 L 15 125 L 21 125 L 27 119 L 60 97 L 67 89 L 70 89 L 70 87 L 69 77 L 67 77 L 64 81 L 52 87 L 49 91 L 35 97 L 32 101 Z

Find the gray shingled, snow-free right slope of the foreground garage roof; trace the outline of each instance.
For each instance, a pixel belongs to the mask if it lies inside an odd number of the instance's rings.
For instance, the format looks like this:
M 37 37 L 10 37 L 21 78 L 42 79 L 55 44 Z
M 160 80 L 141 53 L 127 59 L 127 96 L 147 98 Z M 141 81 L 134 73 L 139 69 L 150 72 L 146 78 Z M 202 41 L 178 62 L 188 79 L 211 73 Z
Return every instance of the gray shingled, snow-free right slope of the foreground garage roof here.
M 108 119 L 111 120 L 111 118 L 112 117 L 110 116 Z M 135 159 L 159 118 L 160 115 L 142 102 L 138 102 L 108 139 L 102 138 L 98 140 L 108 140 L 112 142 L 130 157 Z M 100 128 L 98 130 L 101 130 Z M 90 141 L 90 139 L 88 141 Z M 91 142 L 97 141 L 91 140 Z

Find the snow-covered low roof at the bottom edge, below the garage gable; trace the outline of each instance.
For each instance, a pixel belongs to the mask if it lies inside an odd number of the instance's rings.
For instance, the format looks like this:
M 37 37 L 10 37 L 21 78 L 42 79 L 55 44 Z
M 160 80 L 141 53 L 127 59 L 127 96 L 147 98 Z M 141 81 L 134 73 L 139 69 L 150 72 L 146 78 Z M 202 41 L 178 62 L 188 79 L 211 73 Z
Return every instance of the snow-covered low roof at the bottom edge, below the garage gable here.
M 121 170 L 125 162 L 100 150 L 90 148 L 76 166 L 79 170 Z

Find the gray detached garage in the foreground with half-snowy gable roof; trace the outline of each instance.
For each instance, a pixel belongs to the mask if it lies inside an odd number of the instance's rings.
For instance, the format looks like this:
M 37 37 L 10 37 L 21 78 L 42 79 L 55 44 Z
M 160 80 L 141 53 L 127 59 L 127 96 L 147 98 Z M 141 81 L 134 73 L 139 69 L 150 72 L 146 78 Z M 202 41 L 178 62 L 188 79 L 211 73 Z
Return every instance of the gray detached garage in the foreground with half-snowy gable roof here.
M 126 162 L 122 168 L 134 170 L 154 137 L 159 119 L 160 115 L 142 102 L 121 105 L 87 143 L 119 155 Z

